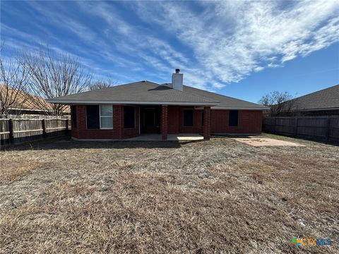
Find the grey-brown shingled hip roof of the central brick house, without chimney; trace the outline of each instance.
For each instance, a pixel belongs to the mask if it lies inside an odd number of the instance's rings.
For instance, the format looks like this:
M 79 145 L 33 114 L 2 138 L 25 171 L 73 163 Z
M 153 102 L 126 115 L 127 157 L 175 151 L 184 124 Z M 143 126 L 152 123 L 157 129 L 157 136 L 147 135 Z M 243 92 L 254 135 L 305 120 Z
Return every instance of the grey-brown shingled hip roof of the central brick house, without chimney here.
M 47 102 L 63 104 L 167 104 L 212 106 L 222 105 L 230 109 L 268 109 L 258 104 L 245 102 L 213 92 L 206 92 L 184 85 L 183 91 L 175 90 L 169 84 L 157 84 L 150 81 L 140 81 L 126 85 L 103 88 L 47 99 Z

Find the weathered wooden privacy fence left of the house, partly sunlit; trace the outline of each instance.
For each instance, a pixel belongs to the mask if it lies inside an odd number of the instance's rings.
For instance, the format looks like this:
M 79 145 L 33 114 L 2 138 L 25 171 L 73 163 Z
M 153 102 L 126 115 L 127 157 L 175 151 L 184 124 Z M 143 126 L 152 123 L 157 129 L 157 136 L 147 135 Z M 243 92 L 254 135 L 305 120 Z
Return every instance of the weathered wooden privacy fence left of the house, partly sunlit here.
M 0 119 L 1 145 L 66 135 L 69 119 Z

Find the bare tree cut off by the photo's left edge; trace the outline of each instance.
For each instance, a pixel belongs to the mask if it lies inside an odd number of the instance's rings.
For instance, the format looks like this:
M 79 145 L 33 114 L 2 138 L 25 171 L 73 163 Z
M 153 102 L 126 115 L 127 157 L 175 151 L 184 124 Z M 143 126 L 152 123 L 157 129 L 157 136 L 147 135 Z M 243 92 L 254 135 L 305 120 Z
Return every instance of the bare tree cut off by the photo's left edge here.
M 18 53 L 3 56 L 4 43 L 0 47 L 0 117 L 6 117 L 11 109 L 20 111 L 25 103 L 28 85 L 28 71 L 20 61 Z

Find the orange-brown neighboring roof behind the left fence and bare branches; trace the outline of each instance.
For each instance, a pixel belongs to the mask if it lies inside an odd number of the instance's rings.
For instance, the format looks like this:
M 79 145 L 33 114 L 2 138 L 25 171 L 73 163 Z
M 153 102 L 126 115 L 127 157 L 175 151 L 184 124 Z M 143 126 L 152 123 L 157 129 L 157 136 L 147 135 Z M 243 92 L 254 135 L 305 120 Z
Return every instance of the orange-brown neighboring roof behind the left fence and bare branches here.
M 7 92 L 8 89 L 8 92 Z M 16 94 L 17 92 L 17 94 Z M 42 97 L 30 95 L 27 92 L 17 91 L 11 87 L 0 85 L 0 98 L 4 102 L 6 94 L 8 97 L 16 96 L 15 102 L 11 104 L 11 110 L 20 111 L 52 111 L 53 107 L 47 103 Z M 69 112 L 70 109 L 67 107 L 64 112 Z

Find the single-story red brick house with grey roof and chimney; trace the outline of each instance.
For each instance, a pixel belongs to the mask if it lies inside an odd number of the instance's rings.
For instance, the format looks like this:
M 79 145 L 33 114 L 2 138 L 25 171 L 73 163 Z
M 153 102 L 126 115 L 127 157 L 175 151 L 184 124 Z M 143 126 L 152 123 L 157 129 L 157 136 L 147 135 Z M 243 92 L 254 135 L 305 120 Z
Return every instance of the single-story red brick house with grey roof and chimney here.
M 140 81 L 48 99 L 71 105 L 71 135 L 78 140 L 133 138 L 143 133 L 261 133 L 259 104 L 183 85 L 179 69 L 172 83 Z

